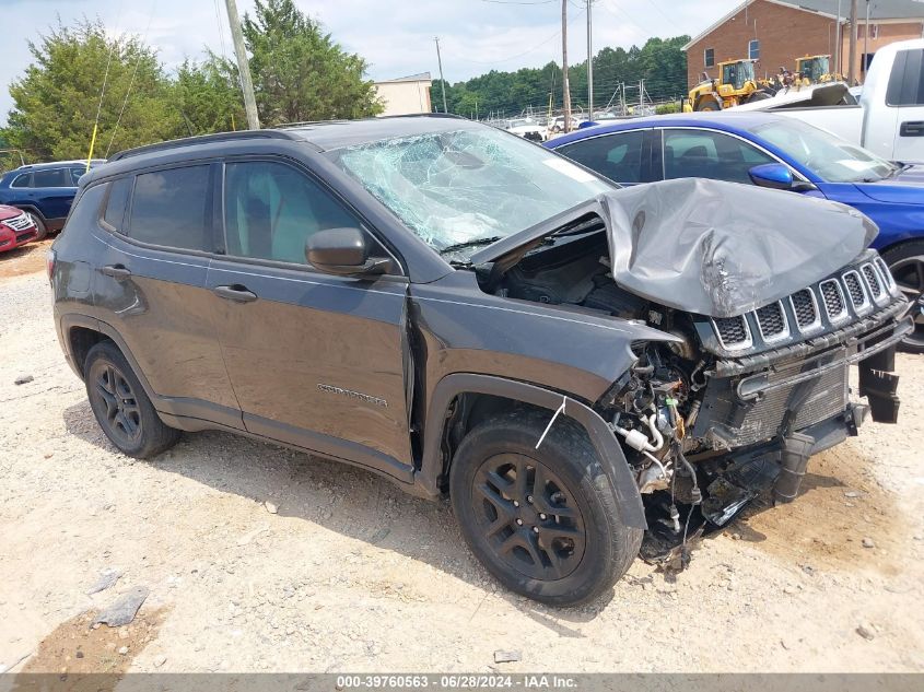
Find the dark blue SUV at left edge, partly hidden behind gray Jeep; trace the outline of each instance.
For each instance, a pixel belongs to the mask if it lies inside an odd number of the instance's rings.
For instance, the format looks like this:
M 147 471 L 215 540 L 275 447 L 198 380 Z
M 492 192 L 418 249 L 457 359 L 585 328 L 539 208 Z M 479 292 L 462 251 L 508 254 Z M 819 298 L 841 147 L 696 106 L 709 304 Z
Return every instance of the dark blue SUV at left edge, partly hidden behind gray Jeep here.
M 103 163 L 94 160 L 91 166 Z M 0 177 L 0 204 L 22 209 L 38 230 L 37 238 L 60 231 L 77 195 L 86 161 L 37 163 L 8 171 Z

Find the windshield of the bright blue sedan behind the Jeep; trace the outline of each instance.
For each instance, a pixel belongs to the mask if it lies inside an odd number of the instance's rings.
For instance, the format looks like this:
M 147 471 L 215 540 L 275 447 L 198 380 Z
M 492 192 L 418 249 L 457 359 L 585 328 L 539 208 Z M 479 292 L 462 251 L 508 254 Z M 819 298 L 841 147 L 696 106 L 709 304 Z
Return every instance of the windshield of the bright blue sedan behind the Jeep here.
M 828 183 L 875 183 L 891 177 L 899 168 L 795 118 L 781 118 L 748 129 Z

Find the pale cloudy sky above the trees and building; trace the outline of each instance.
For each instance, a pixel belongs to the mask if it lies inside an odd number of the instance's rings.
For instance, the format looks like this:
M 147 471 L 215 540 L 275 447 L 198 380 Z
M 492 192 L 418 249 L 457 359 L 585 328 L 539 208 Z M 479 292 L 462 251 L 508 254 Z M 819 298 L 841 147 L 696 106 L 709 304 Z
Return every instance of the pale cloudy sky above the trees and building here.
M 561 61 L 560 0 L 295 0 L 334 39 L 358 52 L 375 80 L 443 72 L 457 82 L 489 70 Z M 587 58 L 585 0 L 568 0 L 569 62 Z M 691 36 L 740 0 L 594 0 L 594 51 L 642 45 L 652 36 Z M 12 107 L 8 91 L 32 61 L 28 42 L 56 23 L 100 17 L 115 33 L 143 37 L 169 70 L 204 47 L 232 55 L 225 0 L 0 0 L 0 124 Z M 243 16 L 254 0 L 237 0 Z M 101 75 L 102 79 L 102 75 Z

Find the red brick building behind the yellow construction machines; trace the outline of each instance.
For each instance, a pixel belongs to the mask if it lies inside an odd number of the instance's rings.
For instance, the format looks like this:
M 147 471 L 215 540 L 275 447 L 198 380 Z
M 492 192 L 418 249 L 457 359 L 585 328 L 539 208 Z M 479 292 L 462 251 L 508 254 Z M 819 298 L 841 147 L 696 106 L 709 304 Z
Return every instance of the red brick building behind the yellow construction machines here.
M 724 60 L 756 58 L 755 71 L 758 77 L 764 77 L 775 74 L 781 66 L 795 70 L 796 58 L 824 54 L 831 56 L 831 69 L 846 75 L 850 7 L 851 0 L 746 0 L 683 47 L 687 81 L 693 86 L 703 72 L 717 77 L 718 63 Z M 877 48 L 922 36 L 924 2 L 858 0 L 854 74 L 863 81 L 864 67 Z M 841 69 L 837 70 L 834 56 L 839 42 Z

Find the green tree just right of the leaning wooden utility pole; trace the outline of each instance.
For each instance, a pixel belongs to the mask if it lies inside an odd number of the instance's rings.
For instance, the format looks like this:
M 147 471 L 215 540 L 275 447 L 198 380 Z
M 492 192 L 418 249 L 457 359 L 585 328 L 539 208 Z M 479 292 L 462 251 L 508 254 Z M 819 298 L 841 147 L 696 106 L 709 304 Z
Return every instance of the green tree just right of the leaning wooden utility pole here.
M 382 112 L 364 79 L 365 60 L 346 52 L 293 0 L 257 0 L 254 16 L 244 17 L 244 39 L 265 127 Z

